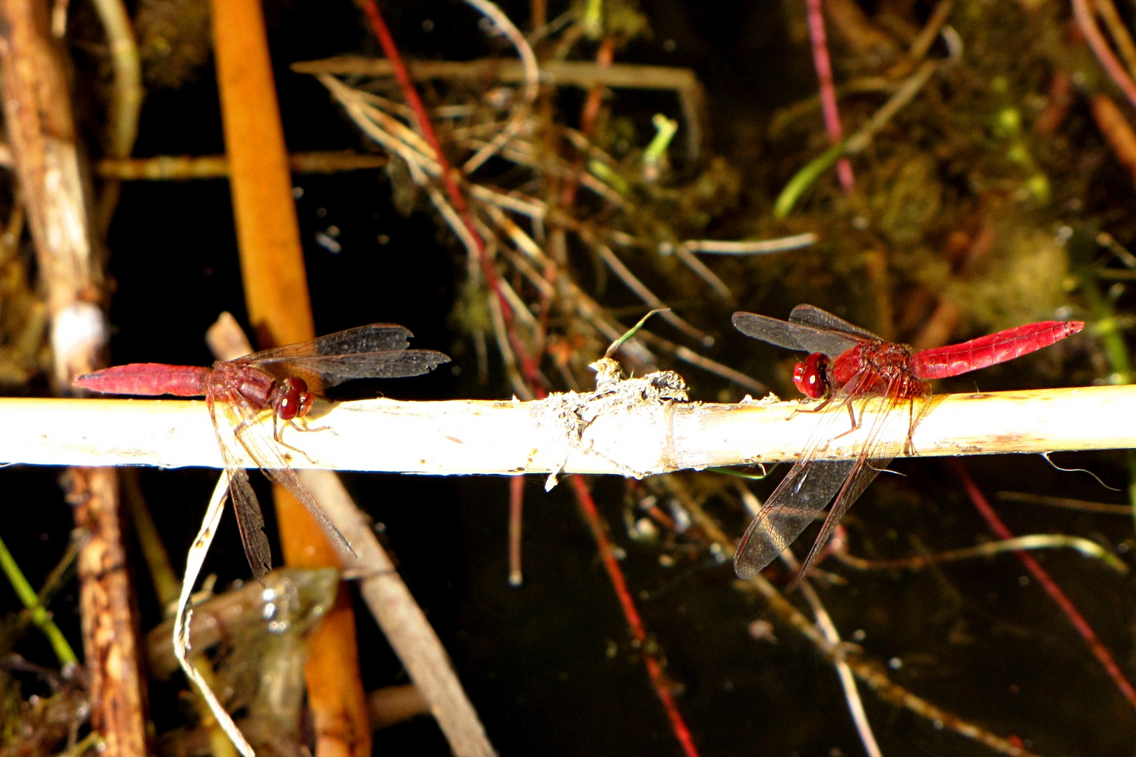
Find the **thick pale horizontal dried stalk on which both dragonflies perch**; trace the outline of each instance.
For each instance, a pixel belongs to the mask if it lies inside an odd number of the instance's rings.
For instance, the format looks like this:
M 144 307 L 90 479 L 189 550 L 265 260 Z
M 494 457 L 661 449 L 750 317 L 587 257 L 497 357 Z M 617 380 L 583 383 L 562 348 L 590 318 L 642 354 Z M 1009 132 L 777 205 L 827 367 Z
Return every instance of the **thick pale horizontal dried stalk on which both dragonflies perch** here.
M 860 429 L 834 439 L 822 456 L 853 456 L 879 404 L 868 401 Z M 797 412 L 804 406 L 644 401 L 637 392 L 618 389 L 534 402 L 366 399 L 325 407 L 311 422 L 333 430 L 286 429 L 284 440 L 303 454 L 287 448 L 283 453 L 296 468 L 648 476 L 792 461 L 819 421 L 815 413 Z M 827 412 L 847 417 L 843 409 Z M 902 445 L 907 413 L 895 417 L 880 434 Z M 942 395 L 912 436 L 912 455 L 1136 447 L 1131 418 L 1136 386 Z M 842 419 L 834 420 L 827 428 L 846 428 Z M 0 427 L 5 463 L 220 466 L 203 402 L 6 398 L 0 399 Z

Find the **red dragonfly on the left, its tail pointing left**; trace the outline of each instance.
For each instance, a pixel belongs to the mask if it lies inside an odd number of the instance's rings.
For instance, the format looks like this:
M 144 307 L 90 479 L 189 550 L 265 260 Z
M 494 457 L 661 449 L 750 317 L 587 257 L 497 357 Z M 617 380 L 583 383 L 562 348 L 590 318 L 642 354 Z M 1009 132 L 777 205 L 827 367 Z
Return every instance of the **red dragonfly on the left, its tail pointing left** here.
M 234 438 L 260 470 L 291 491 L 333 541 L 353 554 L 351 545 L 300 483 L 281 453 L 279 446 L 287 445 L 281 439 L 283 429 L 277 422 L 306 430 L 295 419 L 308 414 L 316 392 L 323 388 L 357 378 L 419 376 L 450 362 L 441 352 L 407 350 L 411 336 L 402 326 L 371 323 L 233 361 L 219 360 L 212 368 L 130 363 L 80 376 L 72 385 L 102 394 L 204 396 L 228 473 L 244 554 L 252 572 L 264 583 L 264 575 L 272 570 L 265 520 L 248 473 L 220 432 L 217 407 L 220 407 L 223 421 L 233 427 Z M 273 438 L 257 422 L 264 411 L 273 413 Z

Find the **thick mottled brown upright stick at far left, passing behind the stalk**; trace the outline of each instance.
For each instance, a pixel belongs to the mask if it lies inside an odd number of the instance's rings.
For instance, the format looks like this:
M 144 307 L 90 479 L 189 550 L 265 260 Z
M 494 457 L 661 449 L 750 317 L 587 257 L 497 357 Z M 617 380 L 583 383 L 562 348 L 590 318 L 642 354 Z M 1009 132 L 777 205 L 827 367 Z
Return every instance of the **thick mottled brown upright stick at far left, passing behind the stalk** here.
M 0 2 L 3 110 L 12 163 L 47 289 L 53 380 L 98 368 L 106 323 L 95 304 L 102 277 L 93 260 L 70 92 L 43 0 Z M 92 725 L 108 757 L 143 755 L 145 689 L 137 668 L 136 615 L 109 469 L 72 469 L 68 498 L 89 535 L 80 555 L 83 647 L 92 683 Z

